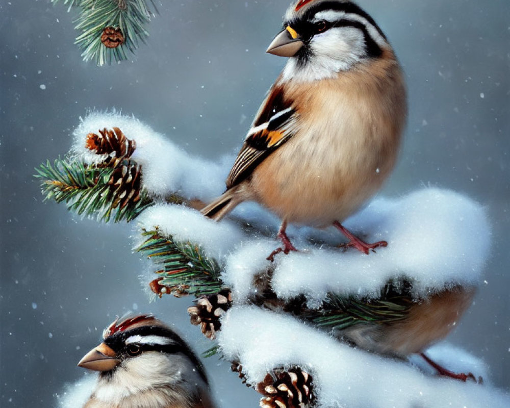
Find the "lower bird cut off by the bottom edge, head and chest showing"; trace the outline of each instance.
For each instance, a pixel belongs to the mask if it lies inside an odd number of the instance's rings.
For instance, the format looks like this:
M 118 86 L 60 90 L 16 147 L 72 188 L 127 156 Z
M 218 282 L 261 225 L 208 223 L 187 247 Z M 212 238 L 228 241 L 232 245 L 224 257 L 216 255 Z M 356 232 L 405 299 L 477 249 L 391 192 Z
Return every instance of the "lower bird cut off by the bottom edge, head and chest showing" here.
M 80 367 L 99 371 L 84 408 L 213 408 L 206 373 L 189 346 L 152 316 L 115 320 Z

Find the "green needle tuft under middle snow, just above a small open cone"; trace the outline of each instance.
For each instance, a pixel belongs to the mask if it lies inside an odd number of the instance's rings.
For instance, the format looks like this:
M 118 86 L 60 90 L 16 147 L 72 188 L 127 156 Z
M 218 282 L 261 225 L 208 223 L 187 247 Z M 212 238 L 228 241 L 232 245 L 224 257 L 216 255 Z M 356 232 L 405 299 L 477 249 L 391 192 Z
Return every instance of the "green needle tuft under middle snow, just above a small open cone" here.
M 163 293 L 198 297 L 220 292 L 223 283 L 218 263 L 209 259 L 200 246 L 165 237 L 158 229 L 144 230 L 142 235 L 148 238 L 136 251 L 163 266 L 156 272 L 160 277 L 151 283 L 151 289 L 160 297 Z

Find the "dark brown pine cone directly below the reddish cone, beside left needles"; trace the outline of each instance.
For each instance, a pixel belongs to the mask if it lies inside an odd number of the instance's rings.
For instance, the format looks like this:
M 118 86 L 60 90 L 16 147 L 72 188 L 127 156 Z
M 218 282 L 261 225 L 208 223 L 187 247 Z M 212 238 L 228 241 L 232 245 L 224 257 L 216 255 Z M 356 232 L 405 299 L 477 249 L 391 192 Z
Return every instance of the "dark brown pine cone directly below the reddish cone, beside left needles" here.
M 140 200 L 142 166 L 128 163 L 117 167 L 108 184 L 114 194 L 112 208 L 117 208 L 120 205 L 120 209 L 123 209 L 127 205 L 135 204 Z

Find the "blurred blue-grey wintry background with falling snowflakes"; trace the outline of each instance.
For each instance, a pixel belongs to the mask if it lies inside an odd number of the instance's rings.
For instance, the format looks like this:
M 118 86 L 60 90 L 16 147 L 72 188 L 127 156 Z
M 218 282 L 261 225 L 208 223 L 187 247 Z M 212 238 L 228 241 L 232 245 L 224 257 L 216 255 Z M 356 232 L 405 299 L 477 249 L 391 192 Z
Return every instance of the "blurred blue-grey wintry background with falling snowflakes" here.
M 191 299 L 148 302 L 131 226 L 101 225 L 43 203 L 32 177 L 34 167 L 69 149 L 89 108 L 121 108 L 209 159 L 239 148 L 285 63 L 264 51 L 289 0 L 161 3 L 133 61 L 99 68 L 81 61 L 75 14 L 65 6 L 0 0 L 3 407 L 53 407 L 65 382 L 83 375 L 75 367 L 81 356 L 126 310 L 173 320 L 197 351 L 210 346 L 188 323 Z M 487 206 L 494 242 L 486 283 L 449 340 L 486 361 L 494 384 L 508 390 L 510 3 L 360 4 L 392 41 L 410 94 L 400 162 L 382 194 L 433 185 Z M 213 357 L 206 365 L 220 406 L 258 406 L 258 394 L 228 364 Z

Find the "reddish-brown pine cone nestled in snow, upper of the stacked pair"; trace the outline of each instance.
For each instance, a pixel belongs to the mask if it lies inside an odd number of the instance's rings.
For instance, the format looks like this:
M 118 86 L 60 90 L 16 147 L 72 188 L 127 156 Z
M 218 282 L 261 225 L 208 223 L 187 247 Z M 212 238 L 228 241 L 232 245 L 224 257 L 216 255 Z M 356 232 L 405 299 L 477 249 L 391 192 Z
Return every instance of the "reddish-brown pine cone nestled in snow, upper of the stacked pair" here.
M 103 129 L 99 134 L 89 133 L 85 147 L 95 150 L 96 155 L 108 155 L 105 164 L 116 167 L 123 159 L 129 159 L 136 149 L 136 142 L 127 139 L 118 127 L 113 131 Z

